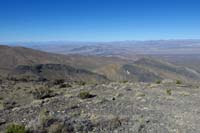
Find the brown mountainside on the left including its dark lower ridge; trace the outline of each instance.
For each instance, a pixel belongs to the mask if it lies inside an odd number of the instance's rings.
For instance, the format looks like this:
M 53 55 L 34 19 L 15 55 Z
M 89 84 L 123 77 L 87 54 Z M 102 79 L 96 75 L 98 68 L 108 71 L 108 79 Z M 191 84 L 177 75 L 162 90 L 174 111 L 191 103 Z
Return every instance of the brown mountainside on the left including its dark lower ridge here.
M 15 80 L 106 81 L 92 72 L 105 64 L 125 61 L 118 58 L 59 55 L 24 47 L 0 46 L 0 75 Z

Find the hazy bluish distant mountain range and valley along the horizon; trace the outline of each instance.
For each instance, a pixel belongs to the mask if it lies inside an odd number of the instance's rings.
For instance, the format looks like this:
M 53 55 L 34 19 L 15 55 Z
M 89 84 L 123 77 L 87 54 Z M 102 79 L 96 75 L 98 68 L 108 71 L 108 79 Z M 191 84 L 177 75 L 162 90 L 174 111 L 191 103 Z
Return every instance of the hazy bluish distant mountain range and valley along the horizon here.
M 115 42 L 23 42 L 12 45 L 58 54 L 118 56 L 130 58 L 135 54 L 199 54 L 200 40 L 149 40 Z

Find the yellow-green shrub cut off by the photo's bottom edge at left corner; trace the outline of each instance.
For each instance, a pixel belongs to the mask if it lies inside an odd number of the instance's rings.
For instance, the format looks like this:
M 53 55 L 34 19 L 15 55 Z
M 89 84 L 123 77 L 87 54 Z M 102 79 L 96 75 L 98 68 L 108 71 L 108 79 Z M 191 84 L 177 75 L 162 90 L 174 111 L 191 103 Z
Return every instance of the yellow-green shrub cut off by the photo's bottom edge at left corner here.
M 6 128 L 6 133 L 27 133 L 24 125 L 11 124 Z

